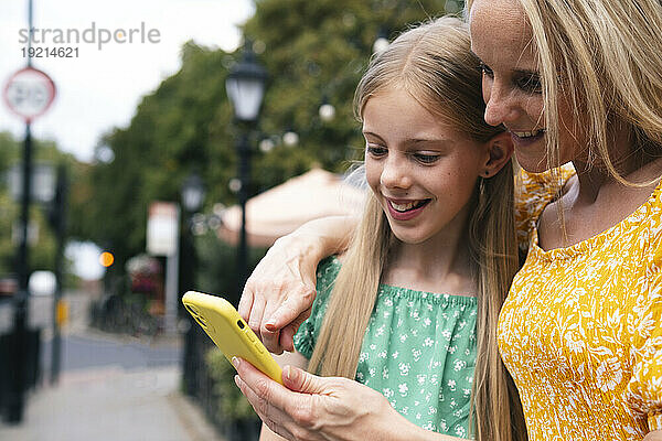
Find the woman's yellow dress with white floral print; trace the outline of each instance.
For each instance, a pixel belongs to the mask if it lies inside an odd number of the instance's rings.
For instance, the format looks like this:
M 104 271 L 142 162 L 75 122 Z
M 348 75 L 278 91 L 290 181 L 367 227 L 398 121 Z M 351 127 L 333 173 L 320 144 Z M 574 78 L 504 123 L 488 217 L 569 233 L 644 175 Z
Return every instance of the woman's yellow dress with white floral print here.
M 567 180 L 572 169 L 562 173 Z M 662 183 L 619 224 L 549 251 L 535 222 L 558 186 L 526 174 L 522 185 L 530 250 L 498 333 L 530 440 L 641 440 L 662 430 Z

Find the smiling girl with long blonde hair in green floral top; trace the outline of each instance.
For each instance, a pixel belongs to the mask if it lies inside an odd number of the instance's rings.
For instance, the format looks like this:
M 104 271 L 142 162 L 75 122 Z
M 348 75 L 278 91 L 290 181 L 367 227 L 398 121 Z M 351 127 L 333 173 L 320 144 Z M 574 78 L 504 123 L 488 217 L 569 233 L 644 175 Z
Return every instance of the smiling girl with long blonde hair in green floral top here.
M 495 342 L 517 268 L 512 141 L 482 120 L 478 67 L 456 18 L 372 61 L 355 94 L 371 191 L 288 362 L 356 378 L 423 429 L 500 441 L 525 432 Z

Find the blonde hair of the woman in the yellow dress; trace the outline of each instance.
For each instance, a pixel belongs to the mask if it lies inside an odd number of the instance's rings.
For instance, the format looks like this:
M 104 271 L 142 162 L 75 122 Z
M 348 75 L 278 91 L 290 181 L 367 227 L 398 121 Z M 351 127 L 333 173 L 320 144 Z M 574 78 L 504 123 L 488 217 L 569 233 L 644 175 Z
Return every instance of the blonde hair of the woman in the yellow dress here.
M 654 158 L 662 147 L 662 4 L 660 0 L 517 0 L 537 47 L 545 109 L 564 94 L 584 127 L 589 163 L 634 183 L 619 161 Z M 471 8 L 472 1 L 467 7 Z M 545 112 L 547 166 L 559 163 L 558 114 Z M 634 151 L 615 157 L 609 128 L 624 123 Z M 641 160 L 641 158 L 644 158 Z M 636 164 L 638 166 L 643 163 Z

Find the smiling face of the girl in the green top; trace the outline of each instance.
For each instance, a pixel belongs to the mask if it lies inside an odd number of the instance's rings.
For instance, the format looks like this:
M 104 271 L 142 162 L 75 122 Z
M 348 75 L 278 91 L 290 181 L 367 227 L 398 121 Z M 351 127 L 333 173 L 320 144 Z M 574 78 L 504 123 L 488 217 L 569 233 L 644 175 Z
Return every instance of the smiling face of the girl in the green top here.
M 398 239 L 419 244 L 465 225 L 477 179 L 489 169 L 487 144 L 398 87 L 367 100 L 363 136 L 367 183 Z

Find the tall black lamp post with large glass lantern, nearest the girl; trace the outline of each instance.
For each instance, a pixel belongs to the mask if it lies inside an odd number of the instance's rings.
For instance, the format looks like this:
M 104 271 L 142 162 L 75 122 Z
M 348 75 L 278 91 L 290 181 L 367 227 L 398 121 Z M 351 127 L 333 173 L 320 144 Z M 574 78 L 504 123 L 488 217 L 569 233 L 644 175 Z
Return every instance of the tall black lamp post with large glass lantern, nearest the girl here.
M 245 126 L 241 130 L 237 142 L 237 155 L 239 159 L 239 206 L 242 207 L 242 229 L 239 233 L 239 248 L 237 251 L 238 291 L 241 294 L 247 278 L 248 246 L 246 241 L 246 200 L 248 198 L 248 185 L 250 183 L 250 146 L 248 144 L 248 131 L 257 122 L 261 107 L 267 82 L 267 72 L 255 60 L 255 54 L 247 41 L 242 61 L 231 71 L 225 80 L 227 97 L 234 108 L 235 120 Z

